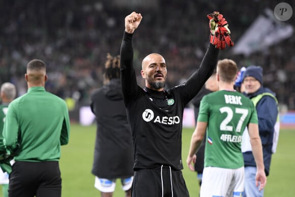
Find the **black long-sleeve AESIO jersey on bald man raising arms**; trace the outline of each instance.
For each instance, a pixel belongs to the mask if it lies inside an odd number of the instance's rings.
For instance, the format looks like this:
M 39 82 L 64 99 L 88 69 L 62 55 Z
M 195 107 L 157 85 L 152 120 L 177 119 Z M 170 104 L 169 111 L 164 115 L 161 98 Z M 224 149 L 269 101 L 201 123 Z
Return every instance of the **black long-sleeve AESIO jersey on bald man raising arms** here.
M 212 75 L 219 50 L 210 44 L 200 67 L 185 83 L 158 92 L 137 85 L 132 41 L 133 34 L 125 32 L 120 55 L 122 91 L 134 144 L 134 170 L 162 164 L 182 170 L 184 108 Z

